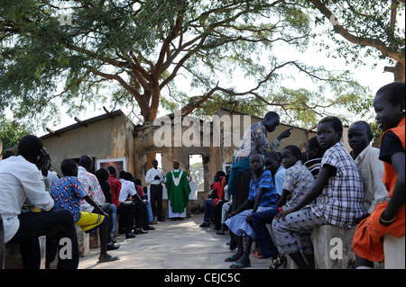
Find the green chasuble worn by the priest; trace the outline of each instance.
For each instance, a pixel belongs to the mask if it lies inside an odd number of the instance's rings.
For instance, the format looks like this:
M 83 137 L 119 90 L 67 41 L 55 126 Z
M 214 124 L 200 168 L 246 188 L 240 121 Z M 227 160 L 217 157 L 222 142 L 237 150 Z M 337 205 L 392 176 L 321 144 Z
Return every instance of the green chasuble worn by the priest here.
M 180 175 L 181 174 L 181 175 Z M 171 202 L 172 212 L 183 212 L 189 204 L 190 187 L 187 173 L 173 170 L 166 176 L 166 189 Z

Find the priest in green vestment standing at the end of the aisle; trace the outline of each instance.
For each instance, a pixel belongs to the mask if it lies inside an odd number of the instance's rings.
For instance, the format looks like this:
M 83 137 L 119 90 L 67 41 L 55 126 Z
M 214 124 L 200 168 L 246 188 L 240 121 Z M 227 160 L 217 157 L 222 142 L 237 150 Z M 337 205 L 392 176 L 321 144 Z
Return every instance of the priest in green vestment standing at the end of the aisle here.
M 169 200 L 169 218 L 171 220 L 184 219 L 186 217 L 186 207 L 189 204 L 189 176 L 179 166 L 179 162 L 175 161 L 173 170 L 165 175 Z

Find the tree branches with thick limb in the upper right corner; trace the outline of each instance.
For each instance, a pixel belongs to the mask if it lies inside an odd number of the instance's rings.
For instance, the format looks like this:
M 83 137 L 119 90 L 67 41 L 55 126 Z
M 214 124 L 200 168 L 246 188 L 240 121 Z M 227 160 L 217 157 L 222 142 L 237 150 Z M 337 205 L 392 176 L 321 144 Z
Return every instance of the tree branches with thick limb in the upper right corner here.
M 388 58 L 395 81 L 405 81 L 404 0 L 304 0 L 331 26 L 338 53 L 354 61 L 363 54 Z M 399 17 L 401 16 L 401 20 Z M 339 37 L 337 37 L 339 35 Z M 364 48 L 364 49 L 362 49 Z M 378 52 L 378 53 L 375 53 Z

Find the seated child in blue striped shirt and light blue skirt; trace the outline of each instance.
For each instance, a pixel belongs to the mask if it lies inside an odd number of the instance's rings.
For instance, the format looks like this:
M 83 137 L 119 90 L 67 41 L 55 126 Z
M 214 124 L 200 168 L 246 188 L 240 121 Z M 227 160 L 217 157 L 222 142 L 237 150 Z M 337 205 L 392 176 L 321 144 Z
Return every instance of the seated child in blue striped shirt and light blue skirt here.
M 256 211 L 263 211 L 274 207 L 277 203 L 275 187 L 272 184 L 271 172 L 263 170 L 263 156 L 252 154 L 249 158 L 250 169 L 253 176 L 250 182 L 248 199 L 238 208 L 231 212 L 226 220 L 226 225 L 235 233 L 238 251 L 234 256 L 226 258 L 226 262 L 235 262 L 230 268 L 241 269 L 251 266 L 250 249 L 256 238 L 251 227 L 251 217 Z M 245 248 L 243 247 L 243 234 L 246 234 Z

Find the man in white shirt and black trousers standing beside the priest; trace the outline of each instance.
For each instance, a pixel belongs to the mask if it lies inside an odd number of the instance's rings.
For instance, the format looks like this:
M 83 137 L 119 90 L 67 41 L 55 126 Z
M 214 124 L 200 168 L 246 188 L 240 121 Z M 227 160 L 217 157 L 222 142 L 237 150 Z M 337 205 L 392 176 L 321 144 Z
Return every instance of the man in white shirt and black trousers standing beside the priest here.
M 152 160 L 152 168 L 145 175 L 145 182 L 150 184 L 150 202 L 153 216 L 158 217 L 158 221 L 164 221 L 162 215 L 162 183 L 164 176 L 161 169 L 158 168 L 158 161 Z M 156 206 L 156 210 L 155 210 Z

